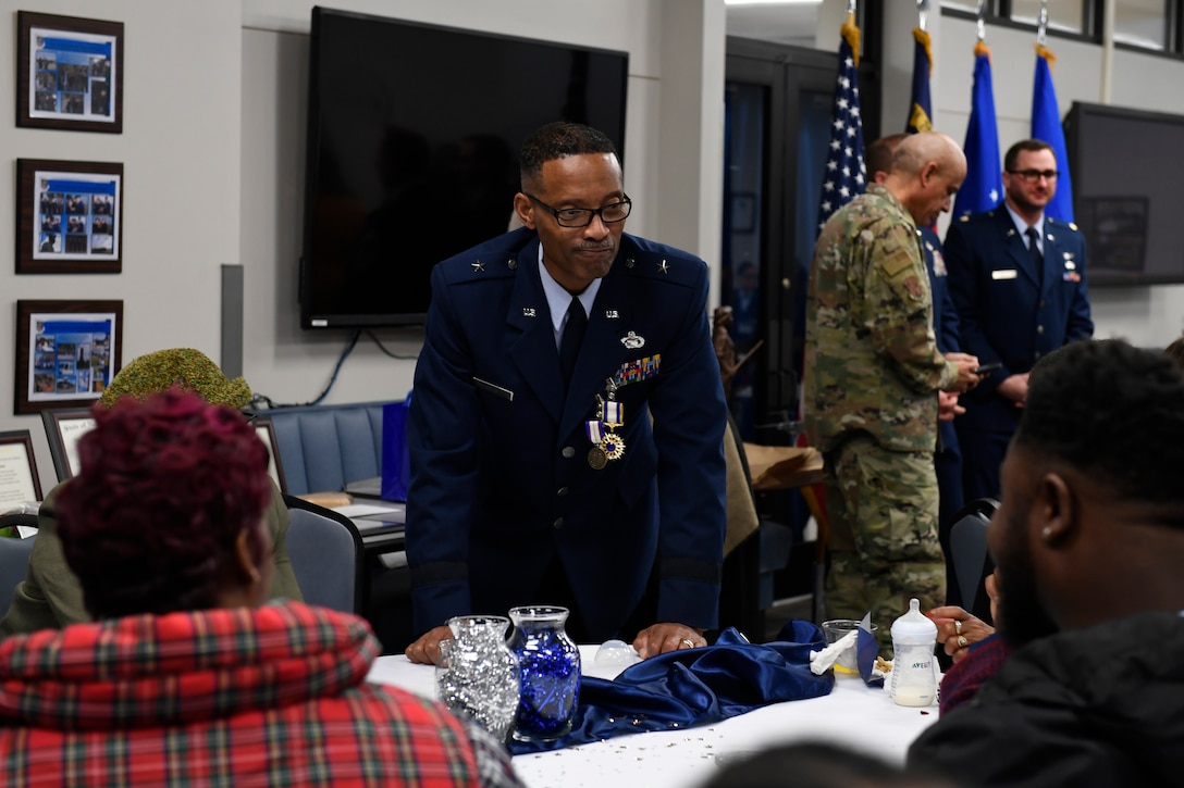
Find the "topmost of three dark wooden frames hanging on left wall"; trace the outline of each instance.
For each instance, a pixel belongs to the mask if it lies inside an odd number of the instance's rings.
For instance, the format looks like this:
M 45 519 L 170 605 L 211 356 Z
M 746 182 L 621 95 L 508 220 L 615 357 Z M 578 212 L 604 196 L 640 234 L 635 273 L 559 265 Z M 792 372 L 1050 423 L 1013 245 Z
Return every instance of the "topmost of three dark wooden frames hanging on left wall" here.
M 17 12 L 17 125 L 123 133 L 123 22 Z

